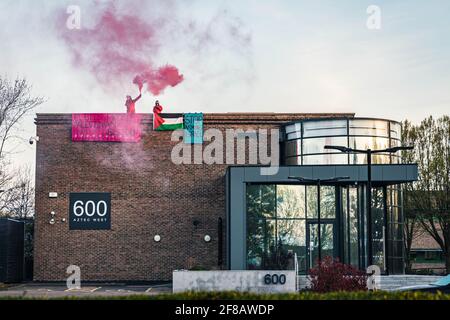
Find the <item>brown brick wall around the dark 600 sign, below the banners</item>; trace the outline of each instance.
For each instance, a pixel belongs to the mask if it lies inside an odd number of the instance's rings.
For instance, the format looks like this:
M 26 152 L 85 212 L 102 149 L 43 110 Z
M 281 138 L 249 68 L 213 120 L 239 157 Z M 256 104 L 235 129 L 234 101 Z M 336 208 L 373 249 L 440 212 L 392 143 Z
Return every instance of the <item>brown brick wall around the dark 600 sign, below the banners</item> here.
M 205 129 L 246 130 L 330 116 L 336 115 L 205 114 L 204 123 Z M 81 267 L 82 281 L 170 280 L 174 269 L 218 268 L 227 165 L 175 165 L 171 133 L 152 131 L 150 115 L 142 123 L 140 143 L 72 143 L 70 114 L 37 115 L 34 280 L 65 280 L 72 264 Z M 111 230 L 69 230 L 61 219 L 68 221 L 70 192 L 111 192 Z

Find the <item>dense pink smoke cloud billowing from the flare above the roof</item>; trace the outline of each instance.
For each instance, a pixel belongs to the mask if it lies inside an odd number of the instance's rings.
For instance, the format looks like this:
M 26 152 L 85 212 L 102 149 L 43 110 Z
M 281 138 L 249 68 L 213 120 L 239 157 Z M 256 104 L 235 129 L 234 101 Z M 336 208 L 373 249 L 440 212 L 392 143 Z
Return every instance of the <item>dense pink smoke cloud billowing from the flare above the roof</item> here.
M 65 24 L 66 19 L 64 12 L 58 20 Z M 175 66 L 156 67 L 153 63 L 160 46 L 158 33 L 162 21 L 152 24 L 135 14 L 120 14 L 111 4 L 100 12 L 91 28 L 58 30 L 73 55 L 74 64 L 92 72 L 99 83 L 110 86 L 134 77 L 133 83 L 140 89 L 146 84 L 148 91 L 159 95 L 167 87 L 183 81 Z

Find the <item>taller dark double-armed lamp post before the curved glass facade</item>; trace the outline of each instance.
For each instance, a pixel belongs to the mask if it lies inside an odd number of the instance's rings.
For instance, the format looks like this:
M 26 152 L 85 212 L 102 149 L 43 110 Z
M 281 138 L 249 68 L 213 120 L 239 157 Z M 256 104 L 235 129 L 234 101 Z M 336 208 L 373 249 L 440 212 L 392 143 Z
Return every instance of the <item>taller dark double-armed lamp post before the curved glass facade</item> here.
M 398 147 L 392 147 L 392 148 L 386 148 L 386 149 L 378 149 L 378 150 L 372 150 L 372 149 L 353 149 L 348 148 L 344 146 L 331 146 L 326 145 L 324 147 L 325 149 L 333 149 L 338 150 L 344 153 L 362 153 L 365 154 L 367 157 L 367 264 L 370 266 L 373 264 L 373 248 L 372 248 L 372 154 L 374 153 L 395 153 L 401 150 L 412 150 L 413 146 L 398 146 Z M 385 208 L 386 212 L 386 208 Z M 386 220 L 386 216 L 385 216 Z M 386 230 L 387 232 L 387 230 Z M 385 257 L 386 259 L 387 257 Z M 387 264 L 386 264 L 387 265 Z

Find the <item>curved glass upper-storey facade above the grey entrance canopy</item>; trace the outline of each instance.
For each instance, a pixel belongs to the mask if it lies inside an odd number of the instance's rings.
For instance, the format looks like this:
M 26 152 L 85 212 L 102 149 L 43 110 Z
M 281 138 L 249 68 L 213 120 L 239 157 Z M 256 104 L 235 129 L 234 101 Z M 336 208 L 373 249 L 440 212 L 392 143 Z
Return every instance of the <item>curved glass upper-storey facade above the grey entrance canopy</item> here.
M 303 120 L 283 128 L 282 161 L 286 165 L 365 164 L 364 154 L 326 150 L 325 145 L 385 149 L 400 145 L 398 122 L 369 118 Z M 373 164 L 400 163 L 400 153 L 374 154 Z

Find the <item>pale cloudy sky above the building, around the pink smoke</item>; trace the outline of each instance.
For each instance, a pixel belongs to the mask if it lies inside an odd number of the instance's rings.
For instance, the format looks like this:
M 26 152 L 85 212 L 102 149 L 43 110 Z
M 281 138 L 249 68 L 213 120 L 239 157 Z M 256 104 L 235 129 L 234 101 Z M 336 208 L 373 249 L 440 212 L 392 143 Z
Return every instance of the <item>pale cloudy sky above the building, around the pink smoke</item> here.
M 133 75 L 100 83 L 74 63 L 59 36 L 65 26 L 57 16 L 69 5 L 79 6 L 83 29 L 109 2 L 0 1 L 0 75 L 32 84 L 46 99 L 37 113 L 124 112 L 125 95 L 137 94 Z M 380 9 L 378 29 L 367 27 L 371 5 Z M 149 60 L 174 64 L 184 76 L 158 97 L 144 93 L 137 112 L 151 112 L 159 99 L 164 112 L 354 112 L 413 122 L 449 114 L 447 0 L 132 0 L 118 6 L 161 25 Z M 11 146 L 16 166 L 34 166 L 28 144 L 34 116 L 21 124 L 23 141 Z

